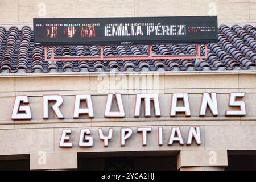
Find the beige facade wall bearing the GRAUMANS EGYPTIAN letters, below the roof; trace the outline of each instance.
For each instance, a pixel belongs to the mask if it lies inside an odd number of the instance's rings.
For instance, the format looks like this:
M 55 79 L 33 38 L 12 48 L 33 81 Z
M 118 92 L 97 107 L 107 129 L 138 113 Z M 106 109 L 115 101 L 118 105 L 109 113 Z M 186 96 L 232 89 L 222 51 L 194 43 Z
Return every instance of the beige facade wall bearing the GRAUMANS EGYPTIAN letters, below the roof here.
M 183 154 L 181 164 L 189 167 L 188 154 L 206 156 L 200 160 L 191 160 L 191 166 L 225 166 L 227 164 L 227 150 L 256 150 L 256 72 L 255 71 L 222 71 L 222 72 L 139 72 L 133 73 L 133 77 L 149 76 L 155 84 L 145 85 L 140 82 L 139 88 L 134 89 L 129 81 L 120 84 L 120 80 L 128 78 L 130 73 L 30 73 L 30 74 L 1 74 L 0 75 L 0 155 L 31 154 L 31 169 L 49 169 L 48 166 L 36 166 L 38 152 L 44 151 L 49 159 L 61 161 L 65 156 L 70 157 L 68 164 L 57 165 L 53 168 L 76 168 L 74 163 L 77 152 L 114 152 L 114 151 L 192 151 Z M 122 78 L 122 79 L 121 79 Z M 102 80 L 109 80 L 102 86 Z M 149 79 L 149 80 L 150 80 Z M 112 81 L 110 81 L 112 80 Z M 108 86 L 109 85 L 109 88 Z M 115 85 L 115 86 L 113 86 Z M 150 89 L 147 89 L 150 88 Z M 100 90 L 99 90 L 100 89 Z M 112 90 L 109 90 L 112 89 Z M 160 118 L 134 118 L 135 94 L 152 92 L 159 94 Z M 191 106 L 191 117 L 169 117 L 172 93 L 187 92 Z M 212 117 L 207 111 L 206 117 L 198 117 L 201 94 L 203 92 L 217 92 L 219 115 Z M 230 92 L 246 92 L 245 117 L 225 117 L 225 111 L 231 109 L 228 106 Z M 72 119 L 75 94 L 90 93 L 94 106 L 94 119 Z M 125 107 L 125 118 L 104 118 L 106 94 L 122 93 Z M 10 119 L 15 96 L 29 96 L 32 120 L 13 121 Z M 42 119 L 42 95 L 60 94 L 64 103 L 60 107 L 65 119 L 56 119 L 50 112 L 50 119 Z M 138 126 L 151 126 L 148 134 L 148 146 L 141 144 L 141 134 L 136 132 Z M 164 128 L 164 145 L 158 146 L 158 127 Z M 197 146 L 195 142 L 191 146 L 167 146 L 170 130 L 173 126 L 180 126 L 184 141 L 187 139 L 190 126 L 200 126 L 202 144 Z M 94 137 L 92 148 L 80 148 L 77 145 L 79 132 L 82 128 L 90 128 Z M 109 147 L 104 147 L 99 140 L 97 129 L 113 127 L 113 139 Z M 126 146 L 121 147 L 119 142 L 120 127 L 131 127 L 134 131 L 132 137 L 127 140 Z M 63 128 L 72 129 L 73 148 L 59 148 L 61 131 Z M 210 151 L 216 151 L 218 160 L 215 165 L 207 165 L 207 155 Z M 195 152 L 195 153 L 193 153 Z M 59 155 L 57 155 L 59 154 Z M 64 155 L 67 154 L 67 155 Z M 57 155 L 55 157 L 55 155 Z M 197 157 L 198 158 L 198 157 Z M 186 161 L 184 163 L 184 160 Z M 183 161 L 183 162 L 182 162 Z M 67 167 L 70 164 L 70 167 Z M 179 166 L 179 167 L 182 167 Z M 61 167 L 60 167 L 61 168 Z

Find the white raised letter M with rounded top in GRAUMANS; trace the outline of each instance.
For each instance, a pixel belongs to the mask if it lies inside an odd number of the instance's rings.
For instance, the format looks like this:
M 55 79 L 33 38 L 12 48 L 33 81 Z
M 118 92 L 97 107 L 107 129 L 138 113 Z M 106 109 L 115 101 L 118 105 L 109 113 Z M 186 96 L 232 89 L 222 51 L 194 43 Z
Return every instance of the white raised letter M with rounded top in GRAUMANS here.
M 155 116 L 160 117 L 160 106 L 158 101 L 158 94 L 156 93 L 138 93 L 136 97 L 134 117 L 139 117 L 141 111 L 141 100 L 144 98 L 145 117 L 150 117 L 150 100 L 154 102 Z

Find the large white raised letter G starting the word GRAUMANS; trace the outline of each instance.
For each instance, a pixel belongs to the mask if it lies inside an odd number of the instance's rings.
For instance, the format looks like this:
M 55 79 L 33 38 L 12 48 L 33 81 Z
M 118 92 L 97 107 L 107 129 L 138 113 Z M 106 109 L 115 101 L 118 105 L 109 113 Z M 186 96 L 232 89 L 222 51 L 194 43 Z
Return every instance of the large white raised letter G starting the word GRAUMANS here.
M 11 119 L 31 119 L 31 110 L 30 106 L 21 106 L 20 102 L 24 104 L 29 104 L 27 96 L 16 96 L 14 106 L 13 106 L 13 113 L 11 114 Z M 25 113 L 18 113 L 19 111 L 23 111 Z

